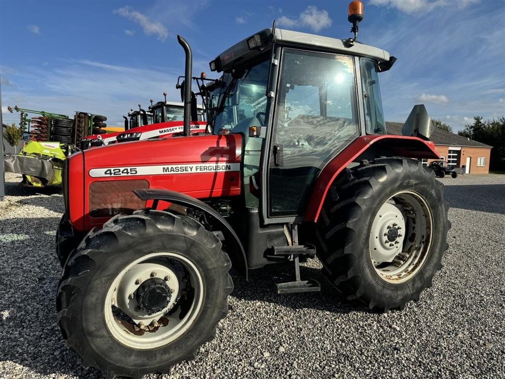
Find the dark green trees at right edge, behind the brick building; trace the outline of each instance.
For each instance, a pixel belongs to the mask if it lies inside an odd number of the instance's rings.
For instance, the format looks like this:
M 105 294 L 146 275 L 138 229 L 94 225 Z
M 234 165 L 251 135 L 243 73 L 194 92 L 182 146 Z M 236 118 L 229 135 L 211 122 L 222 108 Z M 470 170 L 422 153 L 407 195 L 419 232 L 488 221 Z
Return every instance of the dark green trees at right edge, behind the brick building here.
M 492 146 L 489 169 L 505 170 L 505 117 L 483 122 L 481 116 L 474 116 L 473 124 L 466 124 L 458 134 Z

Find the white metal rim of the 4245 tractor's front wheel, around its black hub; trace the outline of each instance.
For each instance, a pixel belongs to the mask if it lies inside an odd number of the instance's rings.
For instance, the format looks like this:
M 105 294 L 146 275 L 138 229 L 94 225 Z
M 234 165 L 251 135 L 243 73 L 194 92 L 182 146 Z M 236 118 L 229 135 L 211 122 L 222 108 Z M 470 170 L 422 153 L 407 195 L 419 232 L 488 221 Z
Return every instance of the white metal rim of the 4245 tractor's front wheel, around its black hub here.
M 135 295 L 141 283 L 153 277 L 151 273 L 167 283 L 171 296 L 161 311 L 148 314 L 139 309 L 136 297 L 129 296 Z M 138 279 L 140 283 L 136 283 Z M 126 266 L 112 282 L 105 299 L 107 327 L 117 341 L 131 348 L 155 349 L 170 344 L 193 324 L 203 303 L 203 289 L 201 273 L 186 257 L 169 252 L 145 255 Z M 179 317 L 181 298 L 191 303 L 182 318 Z M 122 317 L 118 316 L 117 309 L 124 314 Z M 145 330 L 135 330 L 140 322 Z

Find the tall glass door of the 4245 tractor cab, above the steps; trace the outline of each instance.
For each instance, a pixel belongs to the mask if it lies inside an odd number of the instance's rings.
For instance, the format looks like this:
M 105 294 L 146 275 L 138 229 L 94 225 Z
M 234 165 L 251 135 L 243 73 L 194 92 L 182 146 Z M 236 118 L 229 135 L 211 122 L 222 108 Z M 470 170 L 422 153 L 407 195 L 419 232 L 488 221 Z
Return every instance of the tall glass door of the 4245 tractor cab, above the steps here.
M 353 57 L 283 48 L 264 163 L 265 223 L 305 213 L 324 165 L 359 132 Z

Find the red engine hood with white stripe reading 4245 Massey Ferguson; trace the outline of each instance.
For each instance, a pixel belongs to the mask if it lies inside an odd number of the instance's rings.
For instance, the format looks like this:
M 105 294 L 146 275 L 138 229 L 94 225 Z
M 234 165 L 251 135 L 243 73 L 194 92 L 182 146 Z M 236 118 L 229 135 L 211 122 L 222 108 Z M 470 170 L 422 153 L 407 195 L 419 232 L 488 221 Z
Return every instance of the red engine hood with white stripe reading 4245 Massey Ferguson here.
M 241 156 L 239 134 L 150 139 L 73 154 L 69 219 L 76 229 L 89 230 L 146 207 L 133 189 L 170 189 L 197 199 L 240 195 Z

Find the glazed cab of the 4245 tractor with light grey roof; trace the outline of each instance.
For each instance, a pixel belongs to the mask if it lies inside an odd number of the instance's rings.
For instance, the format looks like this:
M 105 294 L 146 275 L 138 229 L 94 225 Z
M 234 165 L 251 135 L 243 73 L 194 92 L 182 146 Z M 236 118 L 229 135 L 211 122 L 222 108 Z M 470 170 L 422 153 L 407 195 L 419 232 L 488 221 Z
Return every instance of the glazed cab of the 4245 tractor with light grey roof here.
M 323 167 L 358 137 L 385 134 L 379 73 L 394 61 L 373 46 L 281 29 L 213 60 L 223 77 L 212 130 L 245 140 L 246 206 L 266 222 L 303 217 Z

